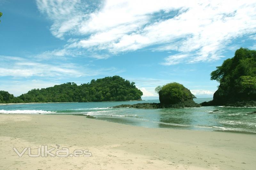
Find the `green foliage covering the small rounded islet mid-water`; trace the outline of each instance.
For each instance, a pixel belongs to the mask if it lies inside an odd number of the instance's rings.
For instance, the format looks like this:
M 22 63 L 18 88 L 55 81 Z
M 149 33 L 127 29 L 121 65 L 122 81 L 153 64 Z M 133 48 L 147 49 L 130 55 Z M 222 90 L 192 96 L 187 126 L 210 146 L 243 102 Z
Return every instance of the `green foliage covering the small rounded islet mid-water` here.
M 176 104 L 186 100 L 193 100 L 190 90 L 176 82 L 164 85 L 158 94 L 162 104 Z

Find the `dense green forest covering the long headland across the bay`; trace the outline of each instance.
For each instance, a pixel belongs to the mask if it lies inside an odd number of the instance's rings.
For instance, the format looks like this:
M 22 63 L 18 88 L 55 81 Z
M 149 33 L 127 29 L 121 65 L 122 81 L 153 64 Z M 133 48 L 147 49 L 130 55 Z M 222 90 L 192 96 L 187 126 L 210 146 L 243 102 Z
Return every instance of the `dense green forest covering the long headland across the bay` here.
M 17 97 L 17 101 L 31 103 L 141 100 L 143 93 L 134 84 L 120 76 L 92 80 L 79 86 L 68 82 L 45 89 L 32 89 Z

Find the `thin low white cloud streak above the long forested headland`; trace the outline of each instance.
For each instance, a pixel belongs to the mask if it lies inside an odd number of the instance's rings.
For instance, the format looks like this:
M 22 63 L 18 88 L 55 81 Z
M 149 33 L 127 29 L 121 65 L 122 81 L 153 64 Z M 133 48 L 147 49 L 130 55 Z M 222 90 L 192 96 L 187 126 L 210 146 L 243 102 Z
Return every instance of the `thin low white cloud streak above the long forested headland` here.
M 0 77 L 81 77 L 95 76 L 106 73 L 116 73 L 115 67 L 110 68 L 94 68 L 90 65 L 81 66 L 74 63 L 42 63 L 36 60 L 25 59 L 20 57 L 0 56 Z M 120 72 L 120 71 L 119 71 Z

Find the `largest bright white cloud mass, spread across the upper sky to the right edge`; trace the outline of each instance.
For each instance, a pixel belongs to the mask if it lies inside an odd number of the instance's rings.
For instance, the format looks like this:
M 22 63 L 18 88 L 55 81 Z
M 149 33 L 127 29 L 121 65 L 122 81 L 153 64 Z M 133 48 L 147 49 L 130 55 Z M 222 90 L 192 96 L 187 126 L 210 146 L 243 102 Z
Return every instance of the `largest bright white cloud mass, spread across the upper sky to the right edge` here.
M 256 33 L 255 1 L 107 0 L 93 6 L 79 0 L 36 2 L 53 21 L 54 36 L 80 37 L 68 41 L 65 49 L 96 58 L 108 58 L 97 57 L 102 50 L 111 56 L 150 47 L 178 52 L 165 65 L 212 61 L 223 57 L 236 38 L 253 39 Z M 69 55 L 67 51 L 57 54 Z

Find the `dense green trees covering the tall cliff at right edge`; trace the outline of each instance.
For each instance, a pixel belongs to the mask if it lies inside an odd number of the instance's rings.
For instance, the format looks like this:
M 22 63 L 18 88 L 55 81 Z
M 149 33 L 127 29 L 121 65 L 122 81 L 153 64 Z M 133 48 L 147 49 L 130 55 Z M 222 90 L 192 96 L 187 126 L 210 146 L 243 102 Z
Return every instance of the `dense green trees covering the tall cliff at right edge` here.
M 256 51 L 245 48 L 236 50 L 233 58 L 226 59 L 211 73 L 211 80 L 220 82 L 213 100 L 256 100 Z

